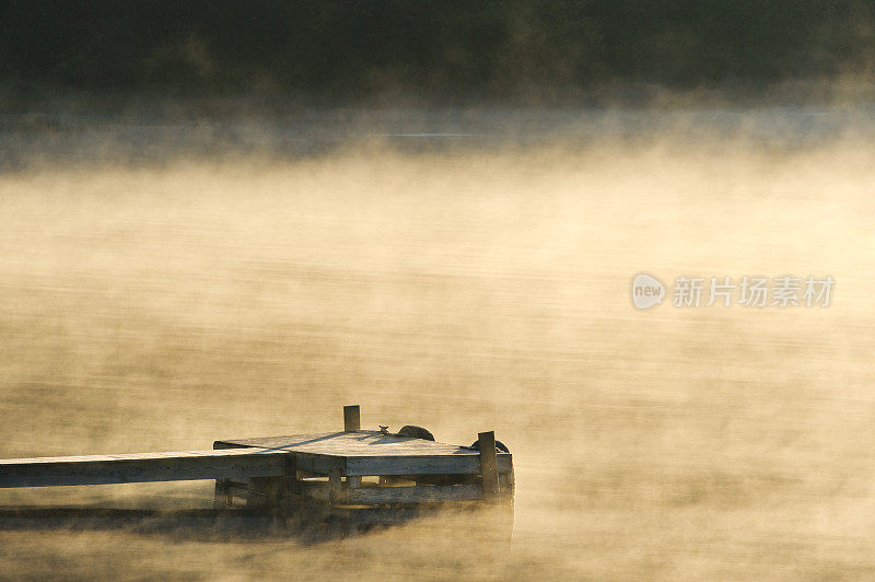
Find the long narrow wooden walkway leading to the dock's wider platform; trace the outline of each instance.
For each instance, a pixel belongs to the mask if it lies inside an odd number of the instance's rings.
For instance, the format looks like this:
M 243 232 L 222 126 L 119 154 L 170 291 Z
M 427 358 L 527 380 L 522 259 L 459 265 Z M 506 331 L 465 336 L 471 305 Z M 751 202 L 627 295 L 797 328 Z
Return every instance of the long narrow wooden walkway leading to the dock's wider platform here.
M 0 488 L 281 477 L 287 454 L 230 449 L 0 459 Z M 225 494 L 221 486 L 217 493 Z

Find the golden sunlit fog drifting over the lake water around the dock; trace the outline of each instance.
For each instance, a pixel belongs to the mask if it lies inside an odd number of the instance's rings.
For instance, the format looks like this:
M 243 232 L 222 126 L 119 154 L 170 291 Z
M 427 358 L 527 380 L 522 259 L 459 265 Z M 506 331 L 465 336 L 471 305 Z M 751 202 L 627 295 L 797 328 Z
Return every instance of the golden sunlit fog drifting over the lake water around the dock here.
M 205 517 L 211 481 L 3 489 L 0 574 L 875 575 L 873 136 L 838 105 L 0 115 L 0 457 L 360 404 L 494 430 L 516 473 L 500 555 L 478 515 L 313 540 Z M 662 305 L 632 305 L 640 272 Z M 835 287 L 672 303 L 745 276 Z M 93 511 L 13 511 L 58 507 Z

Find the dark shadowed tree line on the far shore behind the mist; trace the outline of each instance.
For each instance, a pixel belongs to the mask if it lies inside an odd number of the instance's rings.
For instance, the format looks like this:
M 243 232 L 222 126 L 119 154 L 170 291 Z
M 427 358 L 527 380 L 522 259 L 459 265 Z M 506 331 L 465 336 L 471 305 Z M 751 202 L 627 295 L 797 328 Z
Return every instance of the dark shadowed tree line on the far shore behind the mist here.
M 0 0 L 0 82 L 504 95 L 871 68 L 875 0 Z

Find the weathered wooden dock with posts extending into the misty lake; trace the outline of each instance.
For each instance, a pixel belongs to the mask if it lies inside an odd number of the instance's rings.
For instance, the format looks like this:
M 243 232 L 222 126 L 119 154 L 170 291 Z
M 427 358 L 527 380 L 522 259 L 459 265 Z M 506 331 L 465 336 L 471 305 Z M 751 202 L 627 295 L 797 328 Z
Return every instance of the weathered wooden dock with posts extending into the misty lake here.
M 209 451 L 0 459 L 0 488 L 215 479 L 217 508 L 395 507 L 447 502 L 513 503 L 513 461 L 479 450 L 362 430 L 358 406 L 343 409 L 342 431 L 229 439 Z

